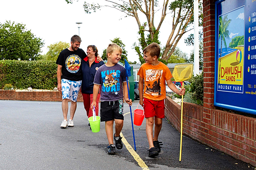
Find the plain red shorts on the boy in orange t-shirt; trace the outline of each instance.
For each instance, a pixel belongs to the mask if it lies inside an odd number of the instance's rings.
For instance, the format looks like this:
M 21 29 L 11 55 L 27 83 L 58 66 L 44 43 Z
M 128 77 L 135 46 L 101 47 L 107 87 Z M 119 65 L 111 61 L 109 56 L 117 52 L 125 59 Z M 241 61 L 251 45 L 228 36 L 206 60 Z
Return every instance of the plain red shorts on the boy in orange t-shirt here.
M 143 100 L 143 109 L 145 113 L 145 118 L 157 117 L 157 118 L 165 118 L 164 115 L 164 100 L 150 100 L 148 98 L 144 98 Z

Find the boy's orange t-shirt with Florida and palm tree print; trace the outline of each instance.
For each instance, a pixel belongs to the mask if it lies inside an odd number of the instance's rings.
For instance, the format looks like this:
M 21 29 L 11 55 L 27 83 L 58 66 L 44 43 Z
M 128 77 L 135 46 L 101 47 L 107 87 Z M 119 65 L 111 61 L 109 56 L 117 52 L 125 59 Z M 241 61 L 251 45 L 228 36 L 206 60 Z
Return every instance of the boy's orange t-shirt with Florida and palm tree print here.
M 169 68 L 160 62 L 153 66 L 148 63 L 142 64 L 138 74 L 144 79 L 143 97 L 150 100 L 163 100 L 166 98 L 165 80 L 172 78 Z

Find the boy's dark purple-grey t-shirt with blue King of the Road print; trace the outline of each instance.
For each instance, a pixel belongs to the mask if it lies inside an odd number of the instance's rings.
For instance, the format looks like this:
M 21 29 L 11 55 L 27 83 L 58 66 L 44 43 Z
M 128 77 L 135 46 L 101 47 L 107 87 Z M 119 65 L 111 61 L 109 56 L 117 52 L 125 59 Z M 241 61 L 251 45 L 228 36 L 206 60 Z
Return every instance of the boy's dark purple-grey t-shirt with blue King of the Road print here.
M 94 84 L 101 85 L 100 101 L 123 99 L 123 82 L 126 82 L 125 68 L 120 64 L 107 67 L 101 66 L 94 77 Z

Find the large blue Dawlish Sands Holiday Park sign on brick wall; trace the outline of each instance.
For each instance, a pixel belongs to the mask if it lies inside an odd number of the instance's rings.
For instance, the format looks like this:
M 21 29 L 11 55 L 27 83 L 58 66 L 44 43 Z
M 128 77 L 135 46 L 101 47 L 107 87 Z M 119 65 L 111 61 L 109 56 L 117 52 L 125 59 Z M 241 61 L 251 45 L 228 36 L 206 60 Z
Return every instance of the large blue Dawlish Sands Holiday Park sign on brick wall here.
M 214 106 L 256 115 L 256 0 L 215 3 Z

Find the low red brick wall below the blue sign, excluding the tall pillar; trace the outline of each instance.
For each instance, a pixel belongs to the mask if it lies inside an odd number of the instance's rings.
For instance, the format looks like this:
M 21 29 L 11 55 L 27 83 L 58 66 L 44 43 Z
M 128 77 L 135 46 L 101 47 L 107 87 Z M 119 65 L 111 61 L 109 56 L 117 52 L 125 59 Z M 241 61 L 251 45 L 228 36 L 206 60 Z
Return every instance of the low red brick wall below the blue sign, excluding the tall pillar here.
M 181 106 L 167 98 L 165 107 L 165 116 L 180 132 Z M 256 119 L 217 109 L 205 114 L 204 110 L 203 106 L 183 103 L 183 134 L 256 166 Z

